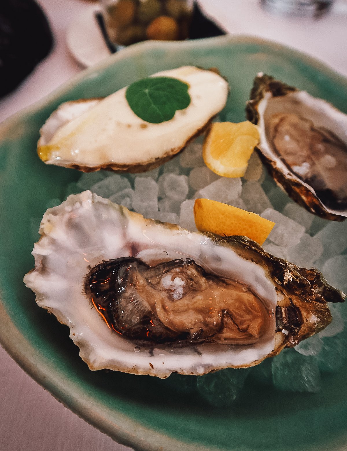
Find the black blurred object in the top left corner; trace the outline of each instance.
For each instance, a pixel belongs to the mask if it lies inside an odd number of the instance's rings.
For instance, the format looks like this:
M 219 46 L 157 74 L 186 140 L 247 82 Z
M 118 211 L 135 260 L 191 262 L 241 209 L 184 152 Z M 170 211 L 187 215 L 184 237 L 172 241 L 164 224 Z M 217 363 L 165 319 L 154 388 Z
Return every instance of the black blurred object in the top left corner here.
M 33 0 L 0 0 L 0 97 L 14 90 L 53 46 L 49 23 Z

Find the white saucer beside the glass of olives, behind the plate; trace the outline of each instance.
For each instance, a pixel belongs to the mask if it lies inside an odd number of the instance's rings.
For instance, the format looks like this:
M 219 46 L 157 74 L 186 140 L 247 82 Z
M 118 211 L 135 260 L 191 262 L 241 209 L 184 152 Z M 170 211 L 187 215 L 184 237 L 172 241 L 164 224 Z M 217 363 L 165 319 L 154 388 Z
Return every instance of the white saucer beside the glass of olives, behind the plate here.
M 100 28 L 96 22 L 95 13 L 100 7 L 93 5 L 80 14 L 68 25 L 66 43 L 71 55 L 82 64 L 89 67 L 110 55 Z

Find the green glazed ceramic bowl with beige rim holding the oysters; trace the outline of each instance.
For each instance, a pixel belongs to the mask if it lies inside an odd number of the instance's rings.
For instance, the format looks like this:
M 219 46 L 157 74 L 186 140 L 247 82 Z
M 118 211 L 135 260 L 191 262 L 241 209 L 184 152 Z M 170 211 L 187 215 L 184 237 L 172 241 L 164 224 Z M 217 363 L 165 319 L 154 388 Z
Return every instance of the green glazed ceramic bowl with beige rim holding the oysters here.
M 155 377 L 91 372 L 68 328 L 37 307 L 23 275 L 33 266 L 30 218 L 62 198 L 79 173 L 38 159 L 39 128 L 63 101 L 105 96 L 138 78 L 183 64 L 216 66 L 231 86 L 222 120 L 244 120 L 257 72 L 324 97 L 347 112 L 347 81 L 286 47 L 247 37 L 146 42 L 113 55 L 0 129 L 0 339 L 38 383 L 88 423 L 143 450 L 326 450 L 347 444 L 347 366 L 323 379 L 318 394 L 247 385 L 239 404 L 206 408 Z

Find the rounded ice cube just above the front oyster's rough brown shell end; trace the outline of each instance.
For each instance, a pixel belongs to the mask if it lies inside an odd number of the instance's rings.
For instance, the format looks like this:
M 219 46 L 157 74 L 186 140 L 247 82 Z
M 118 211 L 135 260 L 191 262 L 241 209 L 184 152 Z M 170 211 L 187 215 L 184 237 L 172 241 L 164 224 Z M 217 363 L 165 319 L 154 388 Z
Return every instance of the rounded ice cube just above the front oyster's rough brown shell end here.
M 288 260 L 297 266 L 311 268 L 322 253 L 323 245 L 320 240 L 304 233 L 298 244 L 289 246 Z

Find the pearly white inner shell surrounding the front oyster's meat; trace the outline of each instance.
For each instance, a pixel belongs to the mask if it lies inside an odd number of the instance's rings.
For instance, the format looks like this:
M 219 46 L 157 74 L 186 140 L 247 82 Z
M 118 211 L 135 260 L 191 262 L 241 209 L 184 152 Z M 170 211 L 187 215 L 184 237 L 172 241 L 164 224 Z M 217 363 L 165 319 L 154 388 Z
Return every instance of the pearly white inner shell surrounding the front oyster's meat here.
M 70 327 L 70 337 L 91 369 L 167 377 L 249 366 L 274 349 L 277 294 L 262 267 L 226 245 L 179 226 L 144 219 L 85 191 L 45 213 L 34 245 L 35 269 L 24 281 L 37 303 Z M 84 279 L 103 260 L 134 256 L 147 264 L 192 258 L 206 271 L 242 281 L 272 313 L 269 330 L 255 345 L 201 344 L 184 348 L 141 347 L 111 331 L 83 292 Z

